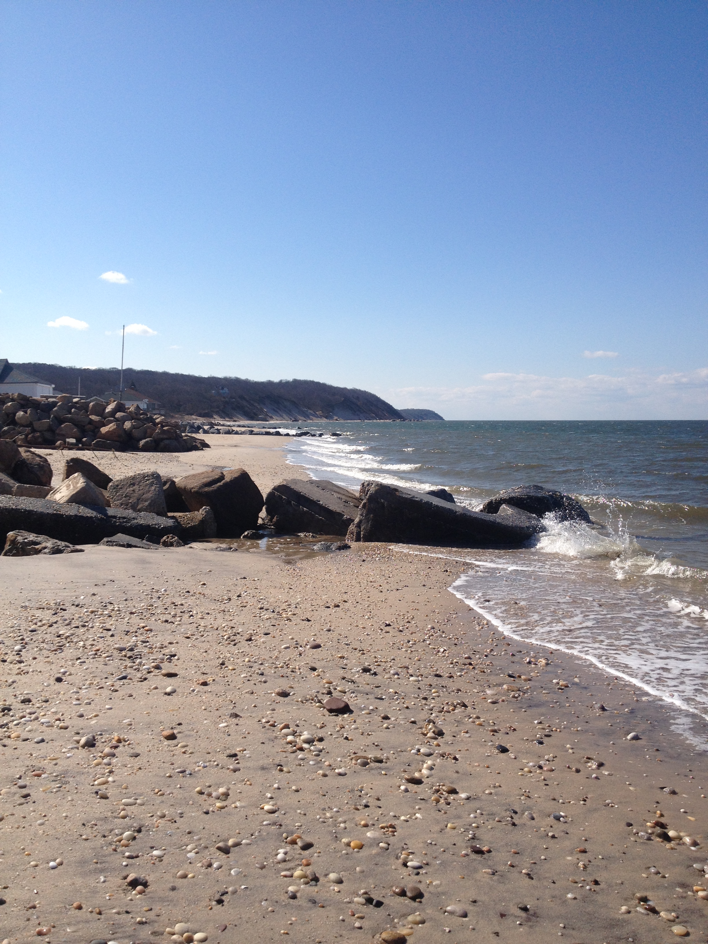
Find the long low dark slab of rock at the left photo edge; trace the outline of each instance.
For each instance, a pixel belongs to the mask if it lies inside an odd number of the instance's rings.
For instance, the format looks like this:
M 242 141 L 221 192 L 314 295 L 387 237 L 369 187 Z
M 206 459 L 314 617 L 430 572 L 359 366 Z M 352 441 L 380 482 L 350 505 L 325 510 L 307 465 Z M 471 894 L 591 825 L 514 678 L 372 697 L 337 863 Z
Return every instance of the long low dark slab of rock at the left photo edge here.
M 72 544 L 98 544 L 104 537 L 120 532 L 160 541 L 166 534 L 179 536 L 180 528 L 173 518 L 159 514 L 0 495 L 0 540 L 5 540 L 8 531 L 32 531 Z

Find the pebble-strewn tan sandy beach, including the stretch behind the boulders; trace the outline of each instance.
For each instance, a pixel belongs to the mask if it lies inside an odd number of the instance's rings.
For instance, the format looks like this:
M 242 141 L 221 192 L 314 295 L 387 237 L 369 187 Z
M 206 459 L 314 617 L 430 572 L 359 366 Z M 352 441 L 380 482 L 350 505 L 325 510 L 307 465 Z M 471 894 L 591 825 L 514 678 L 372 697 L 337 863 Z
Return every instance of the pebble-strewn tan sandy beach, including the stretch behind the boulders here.
M 86 458 L 306 478 L 207 438 Z M 6 941 L 708 940 L 708 764 L 662 702 L 504 639 L 459 552 L 233 548 L 0 562 Z

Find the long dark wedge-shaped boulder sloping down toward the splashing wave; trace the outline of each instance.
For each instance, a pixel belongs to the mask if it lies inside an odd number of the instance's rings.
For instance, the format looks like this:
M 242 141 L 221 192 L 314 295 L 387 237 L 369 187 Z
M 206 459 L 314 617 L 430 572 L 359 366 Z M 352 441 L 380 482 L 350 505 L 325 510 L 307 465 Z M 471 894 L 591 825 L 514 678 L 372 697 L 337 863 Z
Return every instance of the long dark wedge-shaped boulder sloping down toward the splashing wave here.
M 362 504 L 347 541 L 398 541 L 442 547 L 518 547 L 543 525 L 516 522 L 498 514 L 480 514 L 412 489 L 364 481 Z

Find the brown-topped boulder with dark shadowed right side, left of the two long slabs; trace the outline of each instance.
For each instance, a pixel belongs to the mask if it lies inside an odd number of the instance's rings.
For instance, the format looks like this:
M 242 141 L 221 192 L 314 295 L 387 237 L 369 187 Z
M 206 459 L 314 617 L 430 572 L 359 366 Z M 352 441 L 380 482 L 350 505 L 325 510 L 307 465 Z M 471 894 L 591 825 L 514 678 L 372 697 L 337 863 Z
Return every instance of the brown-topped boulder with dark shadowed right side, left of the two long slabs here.
M 211 508 L 219 537 L 239 537 L 258 525 L 263 497 L 244 469 L 194 472 L 175 484 L 190 511 Z

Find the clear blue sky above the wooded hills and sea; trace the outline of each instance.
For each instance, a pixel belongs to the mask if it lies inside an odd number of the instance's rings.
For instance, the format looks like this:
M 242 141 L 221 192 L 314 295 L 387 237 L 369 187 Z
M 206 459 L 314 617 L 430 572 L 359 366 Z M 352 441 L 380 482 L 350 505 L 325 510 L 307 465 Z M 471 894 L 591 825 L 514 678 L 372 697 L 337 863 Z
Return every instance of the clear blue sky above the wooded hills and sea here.
M 1 15 L 0 357 L 706 416 L 703 3 Z

